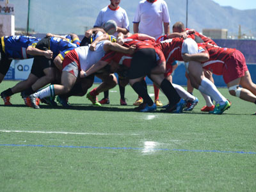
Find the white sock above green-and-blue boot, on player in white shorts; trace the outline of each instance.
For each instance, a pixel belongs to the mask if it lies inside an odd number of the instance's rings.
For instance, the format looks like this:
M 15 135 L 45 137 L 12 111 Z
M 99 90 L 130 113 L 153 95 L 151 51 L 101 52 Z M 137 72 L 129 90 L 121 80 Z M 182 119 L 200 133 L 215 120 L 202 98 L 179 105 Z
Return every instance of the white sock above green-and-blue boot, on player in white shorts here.
M 206 95 L 209 95 L 217 103 L 224 104 L 227 101 L 227 99 L 223 97 L 223 95 L 221 95 L 221 93 L 218 91 L 216 86 L 206 77 L 202 79 L 201 85 L 198 87 L 198 90 L 205 93 Z

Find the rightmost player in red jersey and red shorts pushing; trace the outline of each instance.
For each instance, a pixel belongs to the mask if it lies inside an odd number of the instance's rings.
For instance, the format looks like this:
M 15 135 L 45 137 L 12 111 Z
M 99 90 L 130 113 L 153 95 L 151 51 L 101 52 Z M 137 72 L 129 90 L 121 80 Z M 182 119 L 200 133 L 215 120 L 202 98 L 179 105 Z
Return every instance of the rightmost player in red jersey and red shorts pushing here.
M 186 55 L 186 61 L 201 61 L 203 68 L 223 76 L 230 95 L 256 104 L 256 84 L 240 51 L 211 44 L 198 44 L 198 50 L 198 54 Z M 218 110 L 217 106 L 213 113 Z

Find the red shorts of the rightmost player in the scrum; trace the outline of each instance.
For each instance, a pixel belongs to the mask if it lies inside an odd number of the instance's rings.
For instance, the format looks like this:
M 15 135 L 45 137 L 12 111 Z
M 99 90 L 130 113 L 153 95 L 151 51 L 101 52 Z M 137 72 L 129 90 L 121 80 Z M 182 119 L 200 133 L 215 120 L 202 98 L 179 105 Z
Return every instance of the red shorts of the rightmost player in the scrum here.
M 236 50 L 223 66 L 223 79 L 225 83 L 230 83 L 237 78 L 243 77 L 248 71 L 244 55 Z

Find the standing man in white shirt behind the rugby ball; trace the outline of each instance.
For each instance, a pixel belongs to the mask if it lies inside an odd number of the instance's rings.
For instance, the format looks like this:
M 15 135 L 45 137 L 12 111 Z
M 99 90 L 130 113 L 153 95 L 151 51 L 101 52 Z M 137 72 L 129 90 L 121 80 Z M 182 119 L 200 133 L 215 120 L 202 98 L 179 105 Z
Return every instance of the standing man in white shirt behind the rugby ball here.
M 102 27 L 108 20 L 115 20 L 117 29 L 113 35 L 117 36 L 119 32 L 127 34 L 129 32 L 129 20 L 125 10 L 119 6 L 120 2 L 121 0 L 110 0 L 110 4 L 100 10 L 93 28 Z M 120 86 L 119 80 L 118 84 L 121 95 L 120 104 L 127 105 L 124 98 L 125 88 Z M 99 102 L 100 104 L 109 104 L 108 91 L 104 92 L 104 98 Z

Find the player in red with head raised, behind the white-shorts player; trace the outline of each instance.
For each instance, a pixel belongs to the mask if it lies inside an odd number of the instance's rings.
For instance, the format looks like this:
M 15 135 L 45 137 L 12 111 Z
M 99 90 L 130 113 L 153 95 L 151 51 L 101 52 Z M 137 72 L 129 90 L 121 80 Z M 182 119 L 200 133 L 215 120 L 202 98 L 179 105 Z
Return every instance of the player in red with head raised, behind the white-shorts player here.
M 168 36 L 168 38 L 173 38 L 173 37 L 187 38 L 189 36 L 190 38 L 193 38 L 196 41 L 196 43 L 204 42 L 212 45 L 217 45 L 211 38 L 198 33 L 197 31 L 195 31 L 195 29 L 185 28 L 182 22 L 175 22 L 175 24 L 173 24 L 172 30 L 173 30 L 173 33 L 171 33 Z M 212 83 L 214 83 L 214 79 L 212 78 L 212 73 L 209 70 L 204 70 L 204 75 L 209 80 L 211 80 Z M 190 80 L 188 78 L 188 71 L 186 71 L 186 77 L 188 79 L 188 82 L 187 82 L 188 92 L 193 93 L 193 86 L 191 86 Z M 213 111 L 214 105 L 212 104 L 211 98 L 208 95 L 205 95 L 204 93 L 202 93 L 202 95 L 205 99 L 206 106 L 202 107 L 201 111 Z

